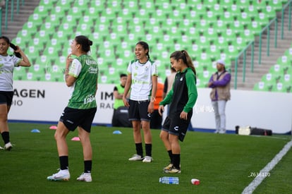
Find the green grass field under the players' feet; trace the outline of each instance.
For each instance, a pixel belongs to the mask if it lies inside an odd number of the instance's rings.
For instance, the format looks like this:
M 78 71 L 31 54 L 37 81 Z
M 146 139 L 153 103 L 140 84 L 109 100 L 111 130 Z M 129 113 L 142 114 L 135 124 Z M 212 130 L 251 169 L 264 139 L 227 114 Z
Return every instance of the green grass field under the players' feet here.
M 69 169 L 67 182 L 47 181 L 59 169 L 54 130 L 48 124 L 9 123 L 11 152 L 0 150 L 0 193 L 242 193 L 253 181 L 249 177 L 260 172 L 291 140 L 291 135 L 241 136 L 188 132 L 181 143 L 181 174 L 164 174 L 168 154 L 159 139 L 159 130 L 152 130 L 150 164 L 130 162 L 135 153 L 131 128 L 93 126 L 92 183 L 76 181 L 83 171 L 80 142 L 69 133 Z M 40 133 L 31 133 L 34 128 Z M 119 130 L 121 135 L 113 134 Z M 1 141 L 3 147 L 3 141 Z M 292 192 L 292 151 L 269 172 L 254 193 Z M 178 185 L 159 183 L 159 177 L 178 176 Z M 200 179 L 200 185 L 190 183 Z

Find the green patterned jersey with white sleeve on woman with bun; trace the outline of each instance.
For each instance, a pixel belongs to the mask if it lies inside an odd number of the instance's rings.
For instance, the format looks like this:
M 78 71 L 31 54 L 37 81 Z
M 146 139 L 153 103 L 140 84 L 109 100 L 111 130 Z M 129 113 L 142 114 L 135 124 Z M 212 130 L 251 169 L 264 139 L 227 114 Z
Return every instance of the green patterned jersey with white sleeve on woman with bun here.
M 71 86 L 68 107 L 73 109 L 91 109 L 97 107 L 95 93 L 97 90 L 98 65 L 91 56 L 83 54 L 73 59 L 69 75 L 76 78 Z

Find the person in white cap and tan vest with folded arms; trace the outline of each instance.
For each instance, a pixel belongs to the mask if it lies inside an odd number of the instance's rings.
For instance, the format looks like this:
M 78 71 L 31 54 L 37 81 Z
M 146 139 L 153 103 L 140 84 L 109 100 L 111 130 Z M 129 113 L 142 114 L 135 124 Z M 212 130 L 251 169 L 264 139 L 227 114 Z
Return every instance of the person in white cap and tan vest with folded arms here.
M 225 69 L 225 62 L 217 61 L 217 72 L 209 79 L 208 87 L 211 87 L 210 98 L 215 114 L 215 133 L 226 133 L 226 102 L 231 98 L 230 93 L 231 74 Z

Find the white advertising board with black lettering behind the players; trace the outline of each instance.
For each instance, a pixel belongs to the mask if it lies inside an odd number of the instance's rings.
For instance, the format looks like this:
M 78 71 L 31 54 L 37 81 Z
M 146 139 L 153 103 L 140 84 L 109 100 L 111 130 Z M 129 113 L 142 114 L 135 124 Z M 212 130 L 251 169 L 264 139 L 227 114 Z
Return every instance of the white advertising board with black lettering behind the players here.
M 97 114 L 94 123 L 111 124 L 114 85 L 99 84 Z M 214 129 L 214 112 L 209 99 L 210 89 L 199 88 L 193 109 L 193 128 Z M 13 106 L 9 120 L 57 122 L 68 102 L 65 83 L 15 81 Z M 292 128 L 292 94 L 231 90 L 226 104 L 226 129 L 252 126 L 287 133 Z

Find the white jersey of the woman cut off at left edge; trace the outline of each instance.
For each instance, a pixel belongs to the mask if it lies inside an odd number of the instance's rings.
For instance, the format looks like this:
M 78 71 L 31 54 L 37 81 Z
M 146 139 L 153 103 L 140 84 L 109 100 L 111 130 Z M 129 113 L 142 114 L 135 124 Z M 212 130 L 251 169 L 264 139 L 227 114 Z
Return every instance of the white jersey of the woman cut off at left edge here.
M 13 69 L 21 60 L 14 55 L 0 54 L 0 91 L 13 91 Z

